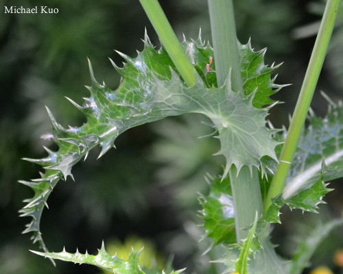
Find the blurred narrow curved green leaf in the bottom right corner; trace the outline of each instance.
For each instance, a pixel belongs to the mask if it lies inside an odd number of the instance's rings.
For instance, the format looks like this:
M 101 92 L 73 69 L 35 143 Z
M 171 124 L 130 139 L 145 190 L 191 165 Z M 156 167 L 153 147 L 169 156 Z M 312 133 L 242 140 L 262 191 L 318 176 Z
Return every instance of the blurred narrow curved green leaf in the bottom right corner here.
M 318 225 L 298 243 L 293 260 L 289 264 L 289 273 L 300 274 L 307 266 L 314 251 L 319 247 L 320 242 L 336 227 L 343 224 L 343 219 L 331 220 L 325 224 Z

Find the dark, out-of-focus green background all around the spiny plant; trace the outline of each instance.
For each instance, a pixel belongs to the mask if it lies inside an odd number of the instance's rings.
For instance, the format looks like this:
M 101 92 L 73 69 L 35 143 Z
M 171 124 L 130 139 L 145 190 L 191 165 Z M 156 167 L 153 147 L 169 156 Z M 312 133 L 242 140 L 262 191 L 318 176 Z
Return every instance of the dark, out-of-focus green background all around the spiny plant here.
M 65 127 L 81 125 L 84 117 L 64 96 L 81 103 L 88 97 L 84 85 L 91 84 L 86 57 L 98 82 L 113 89 L 119 84 L 108 57 L 123 61 L 113 51 L 136 56 L 143 49 L 145 27 L 152 42 L 158 38 L 138 0 L 0 0 L 0 273 L 100 273 L 92 266 L 75 266 L 29 253 L 38 249 L 29 235 L 21 232 L 29 219 L 19 218 L 22 200 L 32 191 L 18 179 L 37 177 L 38 166 L 21 160 L 42 158 L 43 145 L 54 149 L 39 137 L 50 131 L 45 105 Z M 160 1 L 176 34 L 182 40 L 198 37 L 211 40 L 205 0 Z M 34 7 L 48 5 L 58 14 L 4 14 L 3 6 Z M 284 62 L 278 84 L 292 83 L 274 99 L 277 105 L 269 116 L 275 127 L 288 124 L 314 44 L 324 1 L 250 0 L 235 1 L 237 36 L 243 43 L 251 38 L 255 49 L 268 47 L 266 64 Z M 343 12 L 333 34 L 318 90 L 337 101 L 343 90 Z M 317 24 L 317 25 L 316 25 Z M 327 103 L 315 95 L 312 108 L 319 115 L 327 112 Z M 43 213 L 41 231 L 52 251 L 95 253 L 102 240 L 111 249 L 124 249 L 127 243 L 145 241 L 157 262 L 174 256 L 176 269 L 187 266 L 187 273 L 216 273 L 209 256 L 202 256 L 209 242 L 198 240 L 204 234 L 196 216 L 200 206 L 198 192 L 208 191 L 204 175 L 217 174 L 223 159 L 211 157 L 219 149 L 214 138 L 197 138 L 211 133 L 200 123 L 204 116 L 187 115 L 131 129 L 116 141 L 112 149 L 96 160 L 94 149 L 85 162 L 73 169 L 70 178 L 60 182 L 49 198 L 49 210 Z M 218 167 L 219 166 L 219 167 Z M 289 256 L 294 250 L 295 234 L 306 234 L 312 225 L 342 214 L 342 182 L 333 182 L 334 192 L 321 206 L 320 215 L 283 214 L 285 225 L 276 225 L 273 240 L 278 251 Z M 304 220 L 307 220 L 304 222 Z M 300 222 L 301 221 L 301 222 Z M 300 234 L 301 235 L 301 234 Z M 291 240 L 289 240 L 291 239 Z M 133 245 L 133 244 L 132 244 Z M 323 243 L 313 266 L 326 264 L 335 273 L 342 269 L 333 263 L 333 254 L 343 248 L 342 229 Z

